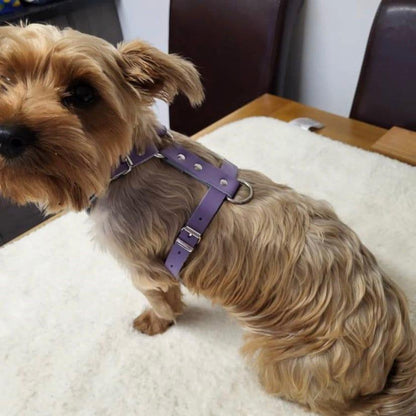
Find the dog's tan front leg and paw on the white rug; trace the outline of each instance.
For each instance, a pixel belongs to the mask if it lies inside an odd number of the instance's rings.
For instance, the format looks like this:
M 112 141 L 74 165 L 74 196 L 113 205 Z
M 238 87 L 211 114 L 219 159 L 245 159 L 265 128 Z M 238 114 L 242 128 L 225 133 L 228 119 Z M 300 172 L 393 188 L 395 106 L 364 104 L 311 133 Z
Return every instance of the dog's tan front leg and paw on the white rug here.
M 133 327 L 147 335 L 162 334 L 183 312 L 180 285 L 175 283 L 162 290 L 149 289 L 148 285 L 143 285 L 143 281 L 138 279 L 133 279 L 133 283 L 146 296 L 151 306 L 133 321 Z

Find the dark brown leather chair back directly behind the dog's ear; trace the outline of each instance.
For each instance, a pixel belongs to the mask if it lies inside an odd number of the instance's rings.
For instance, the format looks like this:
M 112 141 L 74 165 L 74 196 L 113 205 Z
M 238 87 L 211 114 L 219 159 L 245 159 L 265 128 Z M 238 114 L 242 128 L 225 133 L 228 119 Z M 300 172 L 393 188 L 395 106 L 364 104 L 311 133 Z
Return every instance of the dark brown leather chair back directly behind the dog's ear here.
M 171 0 L 169 51 L 195 63 L 206 100 L 178 97 L 173 130 L 193 134 L 266 92 L 283 94 L 292 30 L 303 0 Z

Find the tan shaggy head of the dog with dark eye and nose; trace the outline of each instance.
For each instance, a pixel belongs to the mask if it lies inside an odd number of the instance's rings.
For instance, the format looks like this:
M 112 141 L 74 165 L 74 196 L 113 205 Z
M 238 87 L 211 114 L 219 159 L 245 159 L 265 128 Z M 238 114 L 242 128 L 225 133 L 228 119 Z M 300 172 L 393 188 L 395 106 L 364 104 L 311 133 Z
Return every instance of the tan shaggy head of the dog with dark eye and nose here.
M 192 64 L 71 29 L 0 28 L 0 193 L 46 212 L 81 210 L 120 156 L 156 136 L 155 98 L 203 100 Z

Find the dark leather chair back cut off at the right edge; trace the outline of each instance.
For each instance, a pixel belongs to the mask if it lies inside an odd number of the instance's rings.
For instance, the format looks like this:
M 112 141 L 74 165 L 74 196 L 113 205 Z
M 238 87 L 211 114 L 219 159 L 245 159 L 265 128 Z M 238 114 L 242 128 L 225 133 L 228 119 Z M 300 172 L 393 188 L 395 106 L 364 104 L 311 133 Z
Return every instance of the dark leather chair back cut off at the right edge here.
M 416 130 L 416 1 L 383 0 L 358 81 L 351 118 Z

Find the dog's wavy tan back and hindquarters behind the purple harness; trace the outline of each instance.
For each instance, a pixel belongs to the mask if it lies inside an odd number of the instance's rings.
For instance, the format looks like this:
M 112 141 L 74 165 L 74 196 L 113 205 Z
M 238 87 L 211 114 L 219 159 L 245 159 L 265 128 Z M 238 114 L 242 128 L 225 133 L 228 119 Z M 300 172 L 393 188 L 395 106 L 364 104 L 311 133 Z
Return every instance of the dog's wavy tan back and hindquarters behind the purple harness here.
M 254 184 L 252 207 L 219 215 L 224 244 L 199 253 L 218 250 L 222 265 L 201 260 L 185 281 L 247 329 L 243 352 L 269 393 L 325 415 L 414 416 L 416 344 L 401 290 L 327 203 L 241 177 Z

